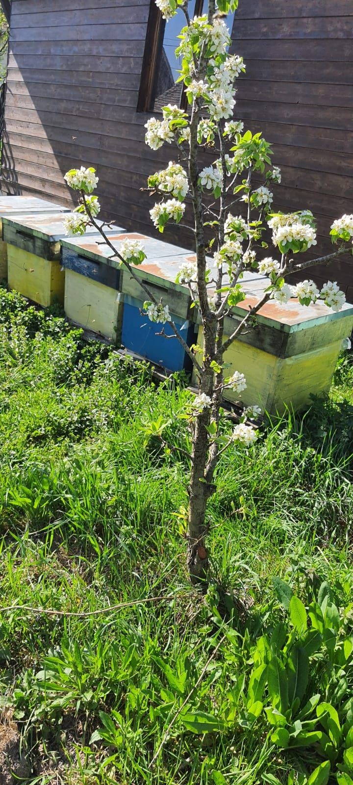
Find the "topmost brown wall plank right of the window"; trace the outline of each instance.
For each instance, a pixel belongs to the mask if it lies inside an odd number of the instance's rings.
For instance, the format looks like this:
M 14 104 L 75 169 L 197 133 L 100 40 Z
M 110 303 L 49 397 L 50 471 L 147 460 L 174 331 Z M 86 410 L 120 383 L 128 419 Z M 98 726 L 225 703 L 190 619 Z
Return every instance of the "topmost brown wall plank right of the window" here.
M 235 19 L 281 19 L 290 16 L 333 16 L 331 0 L 296 0 L 290 9 L 288 0 L 246 0 L 239 2 Z M 346 16 L 351 11 L 349 0 L 335 0 L 335 16 Z

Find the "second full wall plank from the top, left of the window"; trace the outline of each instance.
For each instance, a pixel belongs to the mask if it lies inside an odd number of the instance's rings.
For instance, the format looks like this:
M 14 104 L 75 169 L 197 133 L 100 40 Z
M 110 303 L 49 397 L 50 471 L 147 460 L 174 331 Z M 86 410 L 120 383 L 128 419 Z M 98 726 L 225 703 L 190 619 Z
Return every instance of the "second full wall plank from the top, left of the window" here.
M 17 41 L 91 41 L 93 38 L 103 41 L 116 41 L 117 38 L 129 41 L 143 41 L 146 24 L 80 24 L 70 27 L 27 27 L 11 28 L 10 40 Z M 99 36 L 99 38 L 98 38 Z

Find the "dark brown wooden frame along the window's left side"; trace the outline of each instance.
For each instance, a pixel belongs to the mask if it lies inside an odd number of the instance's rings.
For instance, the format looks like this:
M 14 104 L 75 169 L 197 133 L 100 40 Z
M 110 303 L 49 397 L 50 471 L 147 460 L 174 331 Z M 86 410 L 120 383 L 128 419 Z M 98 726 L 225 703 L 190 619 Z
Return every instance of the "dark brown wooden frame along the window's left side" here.
M 196 0 L 195 16 L 202 13 L 203 0 Z M 155 0 L 150 2 L 150 11 L 147 21 L 146 41 L 144 45 L 144 59 L 142 61 L 142 72 L 140 80 L 139 96 L 137 99 L 138 112 L 155 112 L 155 86 L 157 82 L 158 62 L 162 54 L 164 34 L 166 31 L 166 20 L 162 17 L 162 12 L 157 8 Z M 180 107 L 186 108 L 187 100 L 184 86 L 180 91 Z M 159 114 L 159 112 L 156 112 Z

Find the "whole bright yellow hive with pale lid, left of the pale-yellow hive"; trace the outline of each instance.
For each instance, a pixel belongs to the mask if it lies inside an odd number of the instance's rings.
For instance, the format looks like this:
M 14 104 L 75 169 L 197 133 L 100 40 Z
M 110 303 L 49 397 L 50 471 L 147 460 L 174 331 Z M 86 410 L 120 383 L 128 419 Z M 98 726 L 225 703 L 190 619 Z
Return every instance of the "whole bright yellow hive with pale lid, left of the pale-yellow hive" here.
M 64 305 L 64 268 L 61 241 L 67 236 L 61 213 L 8 216 L 2 236 L 8 244 L 9 288 L 44 308 L 58 301 Z M 96 234 L 89 227 L 87 235 Z

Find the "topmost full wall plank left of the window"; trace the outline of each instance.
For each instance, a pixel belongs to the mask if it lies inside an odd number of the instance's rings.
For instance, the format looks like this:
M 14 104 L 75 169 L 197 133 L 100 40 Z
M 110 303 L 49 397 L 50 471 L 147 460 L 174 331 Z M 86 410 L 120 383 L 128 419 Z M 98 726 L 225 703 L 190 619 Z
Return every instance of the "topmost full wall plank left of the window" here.
M 132 20 L 136 20 L 140 24 L 147 22 L 147 18 L 147 5 L 137 4 L 135 0 L 132 0 L 131 4 L 126 5 L 114 4 L 104 7 L 104 5 L 96 4 L 93 9 L 67 9 L 65 13 L 61 7 L 56 11 L 48 9 L 36 13 L 16 13 L 13 15 L 11 29 L 15 31 L 20 27 L 31 30 L 33 27 L 81 27 L 82 25 L 99 27 L 102 24 L 126 24 L 126 22 L 130 24 Z M 98 30 L 96 32 L 99 33 Z

